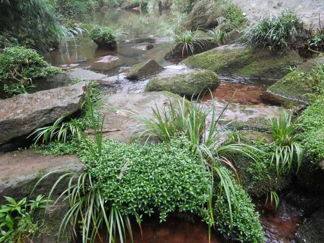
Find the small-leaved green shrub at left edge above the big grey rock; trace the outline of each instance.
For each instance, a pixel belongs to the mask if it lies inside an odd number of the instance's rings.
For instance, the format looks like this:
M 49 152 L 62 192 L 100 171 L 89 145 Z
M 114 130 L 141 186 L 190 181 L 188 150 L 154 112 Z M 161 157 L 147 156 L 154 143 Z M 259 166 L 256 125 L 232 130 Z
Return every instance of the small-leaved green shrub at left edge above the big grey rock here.
M 2 82 L 19 83 L 25 88 L 32 85 L 38 77 L 47 77 L 61 69 L 50 66 L 41 54 L 24 47 L 6 48 L 0 55 L 0 80 Z M 7 90 L 10 91 L 11 87 Z M 20 90 L 26 91 L 22 87 Z M 11 89 L 12 90 L 12 89 Z

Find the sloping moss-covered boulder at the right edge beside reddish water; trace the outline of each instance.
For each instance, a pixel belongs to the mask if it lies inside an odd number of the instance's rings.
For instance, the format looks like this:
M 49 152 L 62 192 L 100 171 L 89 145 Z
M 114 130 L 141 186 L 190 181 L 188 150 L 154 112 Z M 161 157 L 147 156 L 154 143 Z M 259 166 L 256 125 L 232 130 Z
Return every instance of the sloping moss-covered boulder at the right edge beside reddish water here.
M 318 63 L 324 63 L 324 57 L 317 57 L 303 63 L 296 70 L 271 85 L 267 91 L 291 100 L 307 102 L 305 95 L 310 92 L 307 76 L 316 73 L 315 69 Z

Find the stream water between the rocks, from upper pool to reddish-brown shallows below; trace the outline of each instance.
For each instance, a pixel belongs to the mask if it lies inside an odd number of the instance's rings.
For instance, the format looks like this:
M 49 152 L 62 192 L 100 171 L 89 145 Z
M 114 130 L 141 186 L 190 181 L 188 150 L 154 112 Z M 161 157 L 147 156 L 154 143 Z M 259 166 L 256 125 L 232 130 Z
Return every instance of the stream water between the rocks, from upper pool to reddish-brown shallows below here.
M 154 36 L 159 26 L 166 24 L 168 12 L 155 11 L 151 14 L 141 14 L 131 10 L 109 10 L 94 15 L 94 23 L 113 28 L 123 28 L 127 34 L 123 39 L 129 40 L 137 37 Z M 71 71 L 75 68 L 89 69 L 102 74 L 99 87 L 103 93 L 140 93 L 145 89 L 149 79 L 132 82 L 125 78 L 132 65 L 148 60 L 157 61 L 166 69 L 158 76 L 170 76 L 177 73 L 190 72 L 193 69 L 178 65 L 164 59 L 165 53 L 170 50 L 172 43 L 169 38 L 157 38 L 154 48 L 148 51 L 133 48 L 135 44 L 119 39 L 117 51 L 97 50 L 96 44 L 84 36 L 69 42 L 69 45 L 55 50 L 46 56 L 46 60 L 64 69 Z M 76 71 L 77 72 L 77 71 Z M 222 82 L 218 89 L 212 92 L 217 103 L 228 101 L 234 92 L 234 104 L 239 105 L 267 105 L 260 98 L 273 80 L 240 80 L 221 76 Z M 205 102 L 211 100 L 211 94 L 204 97 Z M 264 226 L 266 242 L 288 243 L 294 242 L 294 233 L 300 221 L 301 213 L 290 207 L 285 201 L 280 204 L 279 210 L 269 204 L 264 205 L 264 200 L 255 200 L 256 210 L 260 213 L 260 221 Z M 157 219 L 148 219 L 143 222 L 143 238 L 139 230 L 134 229 L 135 242 L 172 242 L 172 243 L 197 243 L 208 242 L 208 228 L 202 222 L 190 223 L 183 219 L 170 218 L 165 223 Z M 100 242 L 100 241 L 98 241 Z M 211 242 L 228 242 L 223 237 L 212 234 Z

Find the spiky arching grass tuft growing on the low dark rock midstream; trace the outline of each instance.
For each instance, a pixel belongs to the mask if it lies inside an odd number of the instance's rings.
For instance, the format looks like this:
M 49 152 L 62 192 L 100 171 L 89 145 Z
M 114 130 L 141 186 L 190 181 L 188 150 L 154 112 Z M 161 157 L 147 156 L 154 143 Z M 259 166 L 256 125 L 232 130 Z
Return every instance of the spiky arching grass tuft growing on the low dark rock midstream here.
M 183 32 L 175 33 L 173 35 L 174 46 L 179 45 L 182 49 L 182 57 L 185 53 L 187 55 L 192 55 L 195 52 L 195 49 L 203 50 L 203 47 L 206 46 L 206 39 L 199 37 L 198 33 L 195 30 L 185 30 Z

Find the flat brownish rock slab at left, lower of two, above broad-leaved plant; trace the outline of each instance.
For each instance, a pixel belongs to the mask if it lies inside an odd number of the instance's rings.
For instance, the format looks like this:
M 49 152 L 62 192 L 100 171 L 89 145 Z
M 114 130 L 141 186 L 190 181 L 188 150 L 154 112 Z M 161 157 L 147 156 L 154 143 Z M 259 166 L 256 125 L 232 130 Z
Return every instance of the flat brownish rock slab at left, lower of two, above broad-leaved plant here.
M 15 151 L 0 154 L 0 195 L 21 198 L 28 196 L 36 181 L 45 174 L 56 171 L 80 173 L 84 164 L 75 155 L 43 155 L 35 150 Z M 57 172 L 43 180 L 35 190 L 35 195 L 48 194 L 57 178 L 63 172 Z M 66 187 L 63 184 L 62 189 Z M 0 198 L 1 203 L 2 198 Z

